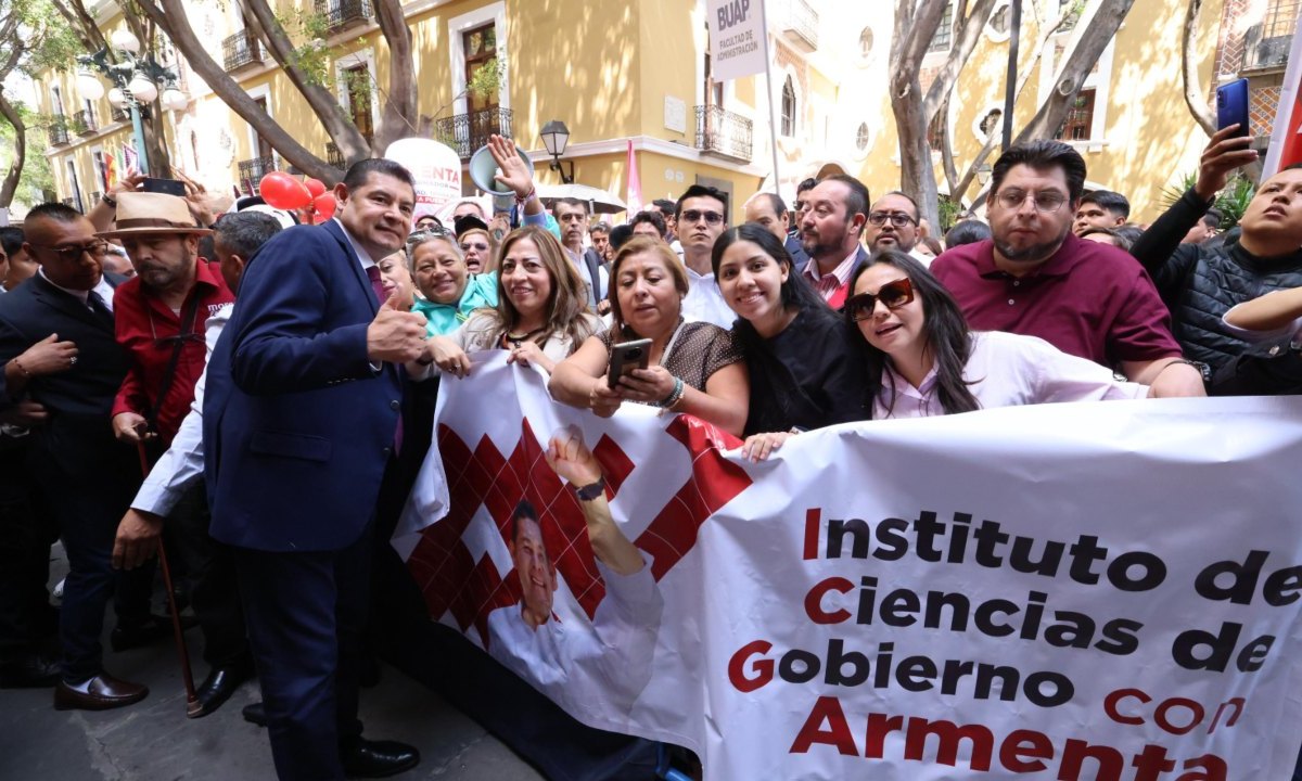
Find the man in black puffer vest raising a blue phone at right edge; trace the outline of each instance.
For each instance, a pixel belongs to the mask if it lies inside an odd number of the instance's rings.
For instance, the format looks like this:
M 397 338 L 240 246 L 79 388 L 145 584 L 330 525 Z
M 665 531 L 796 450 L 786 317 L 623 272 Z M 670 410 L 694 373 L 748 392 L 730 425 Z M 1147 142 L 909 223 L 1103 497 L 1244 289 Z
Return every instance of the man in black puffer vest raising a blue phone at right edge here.
M 1302 169 L 1285 169 L 1258 187 L 1240 220 L 1241 233 L 1224 243 L 1180 243 L 1211 207 L 1232 171 L 1256 159 L 1251 137 L 1234 128 L 1212 135 L 1198 181 L 1135 242 L 1143 264 L 1170 308 L 1185 357 L 1212 371 L 1237 357 L 1247 341 L 1221 316 L 1237 303 L 1302 285 Z

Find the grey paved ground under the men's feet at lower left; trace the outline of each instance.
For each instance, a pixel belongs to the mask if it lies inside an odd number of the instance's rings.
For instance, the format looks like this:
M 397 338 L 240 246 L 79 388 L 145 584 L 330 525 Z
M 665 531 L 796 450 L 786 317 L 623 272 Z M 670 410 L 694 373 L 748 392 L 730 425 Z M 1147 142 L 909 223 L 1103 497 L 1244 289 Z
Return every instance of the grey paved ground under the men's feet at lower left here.
M 56 553 L 59 548 L 56 547 Z M 55 579 L 65 565 L 56 561 Z M 112 626 L 112 621 L 107 622 Z M 107 639 L 107 638 L 105 638 Z M 186 633 L 195 678 L 202 635 Z M 108 647 L 105 642 L 105 648 Z M 105 656 L 115 676 L 139 681 L 150 696 L 116 711 L 55 711 L 52 691 L 0 690 L 3 781 L 273 781 L 264 730 L 240 709 L 260 699 L 246 683 L 207 719 L 185 717 L 185 690 L 171 642 Z M 542 776 L 436 694 L 385 666 L 380 685 L 362 690 L 366 735 L 411 743 L 421 764 L 401 781 L 542 781 Z

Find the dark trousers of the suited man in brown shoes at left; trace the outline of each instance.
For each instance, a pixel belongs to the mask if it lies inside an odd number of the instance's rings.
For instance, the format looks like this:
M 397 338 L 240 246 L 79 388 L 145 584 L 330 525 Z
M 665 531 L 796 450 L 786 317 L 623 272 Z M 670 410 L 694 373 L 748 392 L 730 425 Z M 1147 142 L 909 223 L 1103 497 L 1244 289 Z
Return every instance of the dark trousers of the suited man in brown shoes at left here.
M 113 538 L 141 483 L 139 470 L 105 459 L 98 474 L 72 475 L 43 448 L 34 449 L 31 469 L 68 555 L 59 617 L 64 679 L 85 681 L 103 669 L 99 637 L 116 577 Z

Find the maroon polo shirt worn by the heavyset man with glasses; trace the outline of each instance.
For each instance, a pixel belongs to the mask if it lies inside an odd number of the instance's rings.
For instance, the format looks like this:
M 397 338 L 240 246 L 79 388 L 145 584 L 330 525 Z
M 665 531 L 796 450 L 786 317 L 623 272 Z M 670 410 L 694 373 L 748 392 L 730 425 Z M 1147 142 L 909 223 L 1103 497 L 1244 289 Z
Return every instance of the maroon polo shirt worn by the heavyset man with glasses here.
M 931 273 L 974 331 L 1038 336 L 1108 367 L 1181 354 L 1152 280 L 1130 254 L 1108 245 L 1069 233 L 1052 258 L 1014 277 L 995 267 L 987 238 L 943 253 Z

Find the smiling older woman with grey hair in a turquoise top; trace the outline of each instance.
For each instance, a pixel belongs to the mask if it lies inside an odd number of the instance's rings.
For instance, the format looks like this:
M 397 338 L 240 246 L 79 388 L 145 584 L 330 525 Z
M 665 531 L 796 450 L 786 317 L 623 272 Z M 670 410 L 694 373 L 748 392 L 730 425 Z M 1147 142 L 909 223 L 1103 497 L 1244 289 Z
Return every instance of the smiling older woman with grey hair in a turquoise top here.
M 471 275 L 450 233 L 413 233 L 406 250 L 422 295 L 411 311 L 424 315 L 427 336 L 452 333 L 470 319 L 470 312 L 497 306 L 497 275 Z

